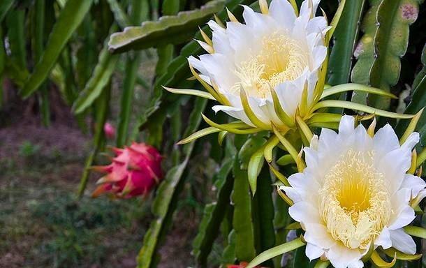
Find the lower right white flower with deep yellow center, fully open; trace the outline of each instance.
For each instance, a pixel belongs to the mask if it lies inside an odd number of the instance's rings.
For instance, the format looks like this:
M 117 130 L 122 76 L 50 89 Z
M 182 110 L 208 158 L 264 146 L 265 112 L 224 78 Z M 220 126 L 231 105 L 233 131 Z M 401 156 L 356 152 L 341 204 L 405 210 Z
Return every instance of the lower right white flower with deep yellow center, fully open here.
M 309 259 L 325 256 L 336 268 L 355 268 L 363 267 L 360 258 L 372 245 L 416 253 L 402 228 L 415 218 L 411 199 L 426 186 L 406 174 L 418 140 L 412 133 L 399 145 L 389 125 L 370 137 L 349 116 L 338 134 L 323 128 L 314 137 L 304 148 L 307 168 L 288 178 L 291 187 L 281 187 L 294 202 L 291 217 L 306 231 Z

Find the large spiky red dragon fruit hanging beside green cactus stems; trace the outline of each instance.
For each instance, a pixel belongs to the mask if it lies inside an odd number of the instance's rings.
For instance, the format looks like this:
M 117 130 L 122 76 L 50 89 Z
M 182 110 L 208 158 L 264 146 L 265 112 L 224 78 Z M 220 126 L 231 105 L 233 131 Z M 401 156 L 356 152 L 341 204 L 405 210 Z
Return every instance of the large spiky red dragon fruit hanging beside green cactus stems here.
M 93 167 L 105 176 L 98 180 L 97 184 L 101 185 L 92 197 L 103 193 L 111 193 L 117 198 L 146 195 L 163 178 L 162 157 L 154 147 L 133 142 L 129 147 L 114 148 L 113 151 L 116 156 L 110 165 Z

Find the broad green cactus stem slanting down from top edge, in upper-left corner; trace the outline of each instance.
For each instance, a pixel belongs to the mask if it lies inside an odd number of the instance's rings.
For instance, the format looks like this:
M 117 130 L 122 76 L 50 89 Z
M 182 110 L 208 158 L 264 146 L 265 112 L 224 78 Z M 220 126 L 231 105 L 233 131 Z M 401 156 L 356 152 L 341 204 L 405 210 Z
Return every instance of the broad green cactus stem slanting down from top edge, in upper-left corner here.
M 54 24 L 49 36 L 45 51 L 34 68 L 24 88 L 20 91 L 23 98 L 28 98 L 43 83 L 52 70 L 59 54 L 68 42 L 71 35 L 82 22 L 91 6 L 91 0 L 68 0 L 61 10 L 59 18 Z

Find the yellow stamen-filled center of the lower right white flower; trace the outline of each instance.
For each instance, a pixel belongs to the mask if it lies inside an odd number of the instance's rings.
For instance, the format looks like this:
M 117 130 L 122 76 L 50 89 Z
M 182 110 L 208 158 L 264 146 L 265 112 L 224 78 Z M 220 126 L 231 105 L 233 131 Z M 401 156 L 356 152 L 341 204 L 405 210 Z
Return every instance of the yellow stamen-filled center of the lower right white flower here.
M 319 191 L 320 214 L 332 237 L 348 248 L 369 246 L 390 217 L 390 195 L 383 174 L 374 169 L 374 151 L 349 150 Z

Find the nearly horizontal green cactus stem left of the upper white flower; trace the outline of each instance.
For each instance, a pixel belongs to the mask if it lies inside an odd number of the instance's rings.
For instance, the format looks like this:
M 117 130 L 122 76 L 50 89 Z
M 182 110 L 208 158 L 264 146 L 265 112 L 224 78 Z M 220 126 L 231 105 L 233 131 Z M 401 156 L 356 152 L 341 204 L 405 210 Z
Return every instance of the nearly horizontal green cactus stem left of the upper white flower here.
M 161 17 L 156 22 L 145 22 L 140 27 L 126 27 L 123 32 L 112 34 L 109 49 L 113 53 L 143 50 L 166 44 L 179 44 L 191 40 L 198 25 L 223 9 L 224 1 L 207 3 L 198 10 L 182 11 L 174 16 Z

